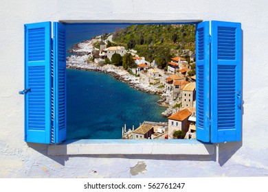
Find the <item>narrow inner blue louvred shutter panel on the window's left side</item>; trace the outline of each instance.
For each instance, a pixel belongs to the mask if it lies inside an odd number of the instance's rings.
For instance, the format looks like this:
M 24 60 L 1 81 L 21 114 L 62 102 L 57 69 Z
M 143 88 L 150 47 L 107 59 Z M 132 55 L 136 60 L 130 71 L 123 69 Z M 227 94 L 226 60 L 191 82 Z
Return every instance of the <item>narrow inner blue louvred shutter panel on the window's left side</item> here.
M 66 32 L 65 25 L 54 23 L 53 55 L 54 67 L 52 69 L 54 85 L 52 88 L 52 143 L 60 143 L 66 139 Z

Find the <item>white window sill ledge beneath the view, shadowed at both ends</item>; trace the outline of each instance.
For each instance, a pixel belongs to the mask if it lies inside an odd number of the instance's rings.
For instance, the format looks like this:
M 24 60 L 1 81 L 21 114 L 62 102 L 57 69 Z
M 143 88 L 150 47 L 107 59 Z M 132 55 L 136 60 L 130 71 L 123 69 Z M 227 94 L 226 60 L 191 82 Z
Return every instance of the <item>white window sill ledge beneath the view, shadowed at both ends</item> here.
M 89 154 L 212 155 L 214 154 L 214 145 L 201 143 L 195 139 L 81 139 L 68 140 L 60 145 L 49 145 L 48 154 L 49 156 Z

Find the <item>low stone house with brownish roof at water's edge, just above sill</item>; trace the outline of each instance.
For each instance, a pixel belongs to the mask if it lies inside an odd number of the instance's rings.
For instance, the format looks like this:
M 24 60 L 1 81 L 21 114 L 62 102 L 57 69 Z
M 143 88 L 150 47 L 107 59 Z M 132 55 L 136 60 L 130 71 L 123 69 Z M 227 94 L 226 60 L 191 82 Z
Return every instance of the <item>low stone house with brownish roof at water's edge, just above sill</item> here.
M 132 132 L 132 139 L 151 139 L 154 133 L 153 125 L 142 124 Z

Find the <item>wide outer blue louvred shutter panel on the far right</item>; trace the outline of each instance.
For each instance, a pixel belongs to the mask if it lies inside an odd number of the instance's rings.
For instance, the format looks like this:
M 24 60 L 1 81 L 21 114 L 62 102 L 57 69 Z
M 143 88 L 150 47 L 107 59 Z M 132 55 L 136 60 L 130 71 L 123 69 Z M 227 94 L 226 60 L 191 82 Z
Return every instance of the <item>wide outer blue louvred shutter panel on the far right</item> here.
M 241 23 L 211 25 L 211 142 L 241 141 Z

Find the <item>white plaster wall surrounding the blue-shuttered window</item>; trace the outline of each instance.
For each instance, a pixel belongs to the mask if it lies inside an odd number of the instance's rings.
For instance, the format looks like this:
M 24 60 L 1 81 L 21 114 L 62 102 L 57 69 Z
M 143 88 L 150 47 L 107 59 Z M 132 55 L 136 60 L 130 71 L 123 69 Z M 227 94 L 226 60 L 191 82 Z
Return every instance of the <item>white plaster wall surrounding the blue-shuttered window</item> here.
M 267 1 L 5 1 L 0 30 L 0 178 L 149 178 L 268 175 Z M 47 156 L 23 141 L 23 24 L 77 20 L 221 20 L 243 27 L 243 142 L 215 156 Z M 131 172 L 139 162 L 142 173 Z M 139 163 L 140 165 L 141 163 Z M 144 165 L 142 164 L 142 165 Z

